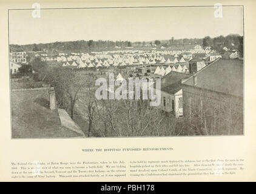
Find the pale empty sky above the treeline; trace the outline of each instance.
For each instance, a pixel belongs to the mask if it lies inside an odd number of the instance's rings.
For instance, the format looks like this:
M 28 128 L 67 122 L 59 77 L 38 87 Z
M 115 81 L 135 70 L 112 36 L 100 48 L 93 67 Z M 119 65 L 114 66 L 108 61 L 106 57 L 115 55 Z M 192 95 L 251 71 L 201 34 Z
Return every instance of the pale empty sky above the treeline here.
M 214 7 L 93 8 L 9 10 L 10 44 L 56 41 L 153 41 L 205 36 L 243 35 L 243 8 Z

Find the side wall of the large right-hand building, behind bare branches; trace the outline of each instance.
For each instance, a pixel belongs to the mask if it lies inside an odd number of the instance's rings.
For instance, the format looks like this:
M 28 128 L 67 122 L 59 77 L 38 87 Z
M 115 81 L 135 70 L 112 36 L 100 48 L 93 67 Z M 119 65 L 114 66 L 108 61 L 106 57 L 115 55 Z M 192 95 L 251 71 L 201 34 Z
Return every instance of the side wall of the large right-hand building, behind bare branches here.
M 183 115 L 200 135 L 243 134 L 243 97 L 184 84 L 182 89 Z

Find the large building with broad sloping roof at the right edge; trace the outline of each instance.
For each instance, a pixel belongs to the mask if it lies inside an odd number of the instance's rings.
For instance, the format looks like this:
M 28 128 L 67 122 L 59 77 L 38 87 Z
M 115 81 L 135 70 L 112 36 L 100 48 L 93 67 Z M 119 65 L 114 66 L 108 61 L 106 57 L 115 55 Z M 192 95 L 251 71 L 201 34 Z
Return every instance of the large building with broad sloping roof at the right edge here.
M 217 59 L 182 81 L 183 114 L 197 135 L 243 134 L 243 61 Z

